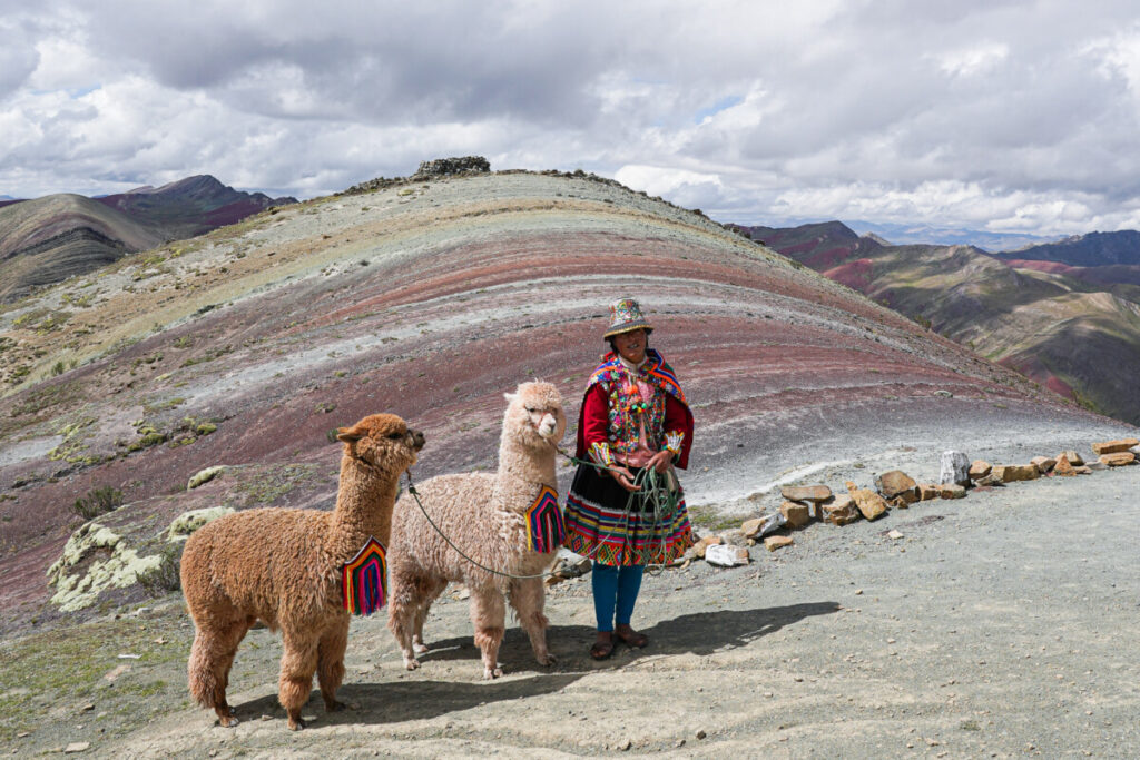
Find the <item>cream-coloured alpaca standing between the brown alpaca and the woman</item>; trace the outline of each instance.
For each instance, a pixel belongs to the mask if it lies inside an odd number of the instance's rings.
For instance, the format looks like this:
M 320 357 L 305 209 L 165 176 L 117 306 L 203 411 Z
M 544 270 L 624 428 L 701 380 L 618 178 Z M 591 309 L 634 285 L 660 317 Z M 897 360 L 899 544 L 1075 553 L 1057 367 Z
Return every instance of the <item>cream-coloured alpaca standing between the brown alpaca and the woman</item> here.
M 506 398 L 498 473 L 441 475 L 416 489 L 432 521 L 464 554 L 500 572 L 530 575 L 547 569 L 557 551 L 557 547 L 542 553 L 528 549 L 526 512 L 544 485 L 557 488 L 554 453 L 567 420 L 562 398 L 549 383 L 523 383 Z M 427 651 L 423 641 L 427 610 L 451 581 L 471 591 L 471 621 L 482 651 L 483 678 L 503 675 L 497 657 L 506 616 L 504 595 L 530 637 L 538 662 L 554 662 L 546 648 L 542 579 L 504 578 L 464 559 L 427 523 L 410 495 L 396 507 L 389 563 L 388 626 L 408 670 L 420 667 L 415 653 Z

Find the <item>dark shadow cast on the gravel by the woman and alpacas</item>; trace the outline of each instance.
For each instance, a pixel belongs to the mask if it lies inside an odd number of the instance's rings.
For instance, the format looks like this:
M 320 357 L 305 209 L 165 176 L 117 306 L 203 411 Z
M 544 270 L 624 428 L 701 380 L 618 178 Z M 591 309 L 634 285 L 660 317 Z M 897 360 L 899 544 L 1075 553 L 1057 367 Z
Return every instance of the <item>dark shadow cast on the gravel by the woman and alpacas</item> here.
M 319 692 L 314 690 L 306 714 L 315 714 L 317 725 L 342 724 L 390 724 L 405 720 L 425 720 L 449 712 L 477 708 L 489 702 L 518 700 L 557 692 L 593 671 L 626 667 L 641 657 L 670 654 L 707 655 L 725 648 L 747 646 L 759 638 L 779 631 L 814 615 L 825 615 L 839 611 L 836 602 L 793 604 L 760 610 L 724 610 L 681 615 L 662 620 L 643 629 L 650 637 L 644 649 L 633 649 L 628 656 L 594 662 L 587 652 L 594 640 L 594 629 L 587 626 L 552 626 L 547 630 L 551 651 L 560 657 L 552 670 L 538 665 L 530 651 L 530 643 L 519 628 L 511 628 L 499 649 L 499 660 L 506 664 L 507 673 L 523 670 L 537 671 L 539 676 L 527 678 L 504 678 L 481 681 L 482 664 L 479 649 L 470 636 L 432 641 L 432 651 L 422 655 L 424 668 L 431 662 L 464 661 L 470 663 L 470 678 L 461 671 L 459 680 L 408 680 L 384 684 L 345 684 L 336 696 L 342 702 L 355 704 L 357 709 L 325 713 Z M 429 630 L 430 634 L 430 630 Z M 466 667 L 463 665 L 463 667 Z M 585 667 L 585 669 L 583 669 Z M 284 712 L 277 704 L 277 695 L 271 694 L 252 702 L 237 705 L 239 718 Z

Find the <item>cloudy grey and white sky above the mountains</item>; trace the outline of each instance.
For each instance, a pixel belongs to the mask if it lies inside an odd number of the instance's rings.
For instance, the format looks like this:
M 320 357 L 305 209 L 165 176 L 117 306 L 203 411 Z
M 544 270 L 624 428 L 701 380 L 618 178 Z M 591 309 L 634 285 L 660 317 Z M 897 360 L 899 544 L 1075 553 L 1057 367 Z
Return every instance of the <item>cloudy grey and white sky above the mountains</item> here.
M 1140 228 L 1134 0 L 0 0 L 0 195 L 426 158 L 719 221 Z

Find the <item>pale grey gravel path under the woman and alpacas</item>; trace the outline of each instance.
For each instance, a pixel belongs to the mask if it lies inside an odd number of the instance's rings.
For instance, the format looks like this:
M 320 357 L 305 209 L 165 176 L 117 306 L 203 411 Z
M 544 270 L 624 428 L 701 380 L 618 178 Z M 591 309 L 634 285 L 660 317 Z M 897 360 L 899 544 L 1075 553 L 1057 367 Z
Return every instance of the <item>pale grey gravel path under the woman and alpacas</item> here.
M 1140 743 L 1140 664 L 1126 638 L 1140 621 L 1138 493 L 1130 467 L 814 524 L 780 553 L 754 548 L 747 567 L 648 578 L 635 622 L 652 644 L 605 663 L 586 656 L 588 577 L 570 581 L 548 599 L 559 663 L 539 669 L 511 628 L 507 676 L 492 683 L 479 680 L 466 603 L 445 595 L 427 626 L 435 649 L 416 672 L 381 621 L 355 622 L 342 696 L 357 709 L 326 714 L 315 693 L 300 734 L 276 705 L 278 645 L 254 631 L 235 669 L 236 729 L 184 710 L 95 749 L 1126 757 Z

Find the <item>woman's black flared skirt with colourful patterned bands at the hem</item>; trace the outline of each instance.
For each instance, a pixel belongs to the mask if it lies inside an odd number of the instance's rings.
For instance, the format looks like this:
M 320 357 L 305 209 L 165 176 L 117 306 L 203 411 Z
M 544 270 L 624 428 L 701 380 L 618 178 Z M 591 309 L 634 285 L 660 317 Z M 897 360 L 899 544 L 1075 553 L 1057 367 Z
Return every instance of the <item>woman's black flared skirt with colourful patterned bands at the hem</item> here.
M 684 492 L 678 496 L 674 513 L 658 520 L 644 497 L 629 505 L 629 491 L 616 480 L 579 465 L 567 495 L 563 546 L 603 565 L 668 564 L 693 545 Z

